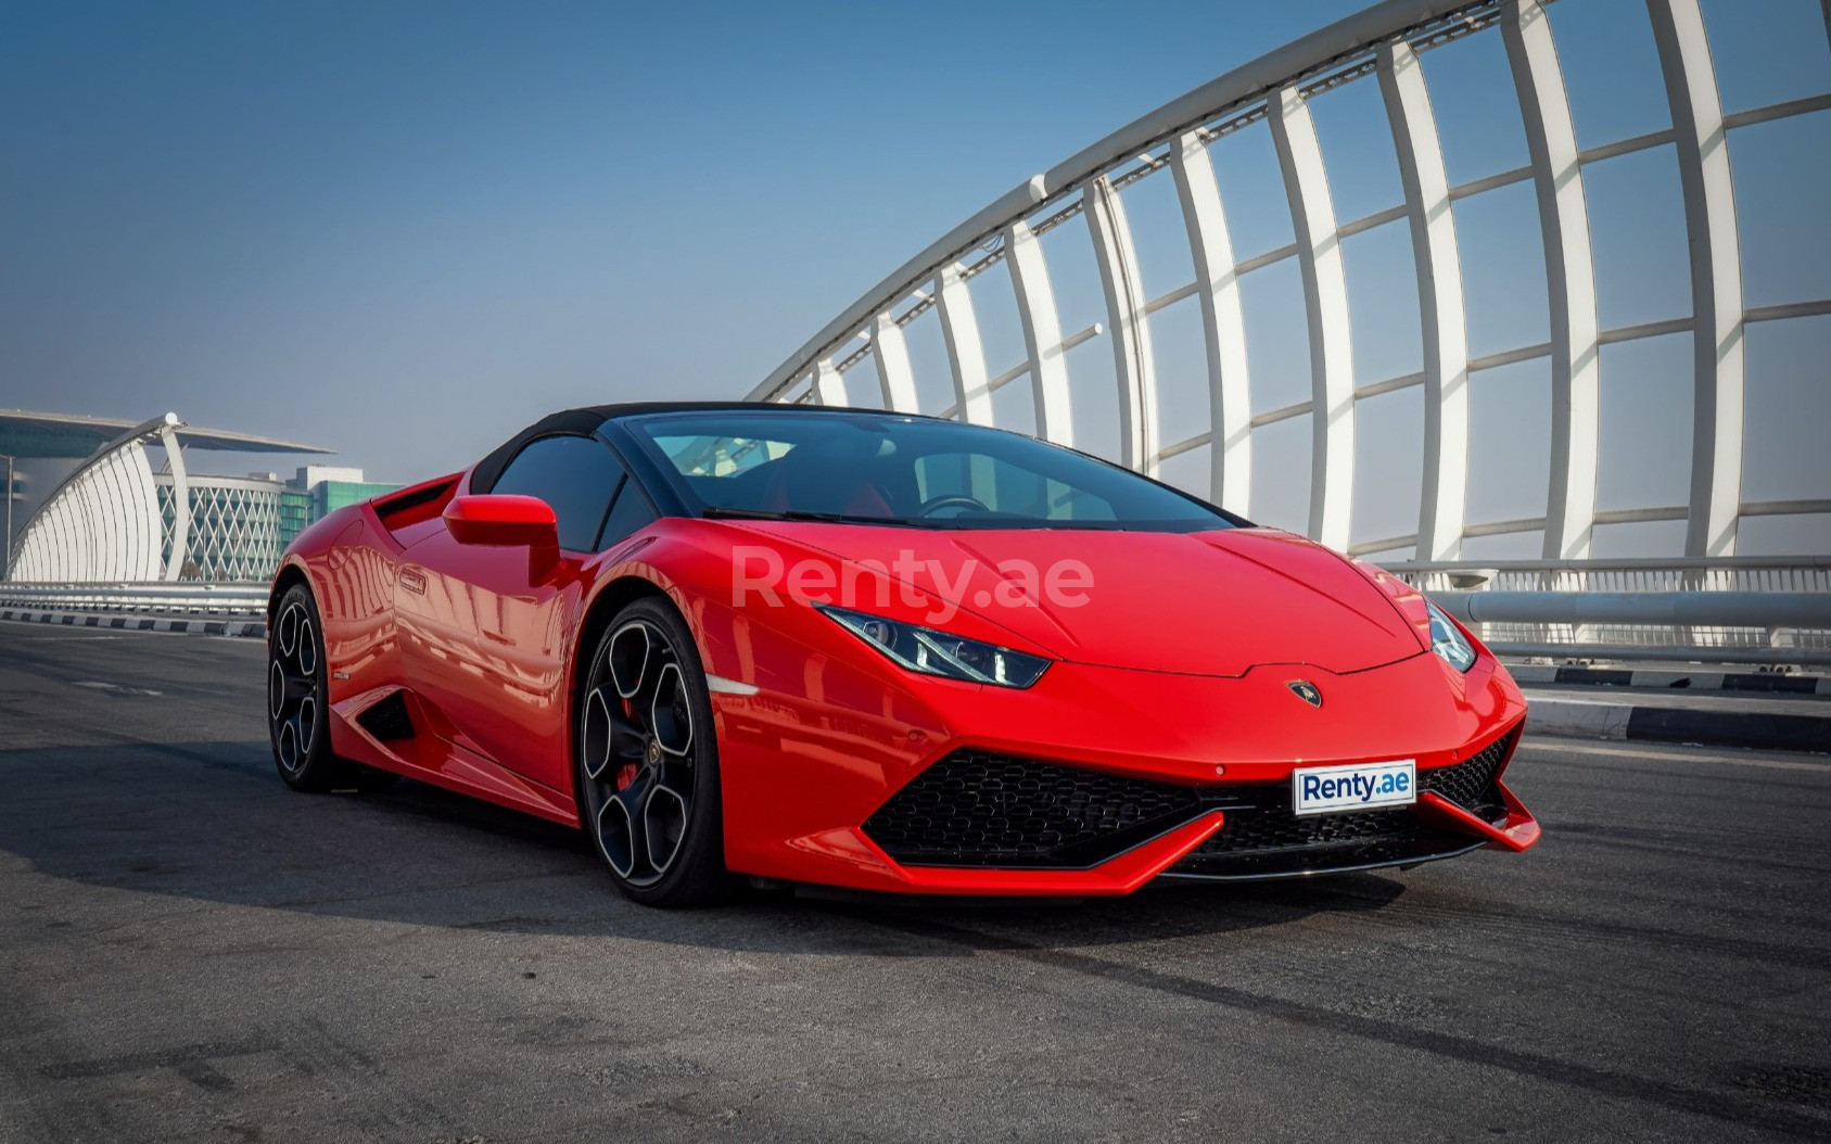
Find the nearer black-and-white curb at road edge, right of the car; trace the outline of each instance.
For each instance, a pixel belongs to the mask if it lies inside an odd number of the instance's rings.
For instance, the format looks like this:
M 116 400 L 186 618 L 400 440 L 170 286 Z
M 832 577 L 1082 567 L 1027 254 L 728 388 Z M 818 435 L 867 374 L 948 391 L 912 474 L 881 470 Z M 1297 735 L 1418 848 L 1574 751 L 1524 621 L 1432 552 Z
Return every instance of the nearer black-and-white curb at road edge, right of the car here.
M 1527 699 L 1527 730 L 1586 739 L 1701 743 L 1831 754 L 1831 716 Z

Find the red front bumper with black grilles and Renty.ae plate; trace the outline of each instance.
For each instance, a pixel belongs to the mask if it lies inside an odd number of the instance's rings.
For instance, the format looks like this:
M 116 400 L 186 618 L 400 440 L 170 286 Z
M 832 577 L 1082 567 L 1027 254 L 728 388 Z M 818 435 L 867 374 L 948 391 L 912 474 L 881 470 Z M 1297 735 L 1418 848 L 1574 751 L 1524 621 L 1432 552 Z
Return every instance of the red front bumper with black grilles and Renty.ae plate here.
M 718 697 L 736 871 L 859 890 L 1102 895 L 1157 877 L 1412 866 L 1538 838 L 1500 782 L 1525 705 L 1489 659 L 1468 675 L 1426 653 L 1344 675 L 1273 664 L 1238 679 L 1056 664 L 1029 692 L 872 686 L 846 679 L 851 666 L 828 668 L 818 703 Z M 1291 677 L 1315 681 L 1324 705 L 1296 701 Z M 1291 815 L 1295 767 L 1392 758 L 1415 760 L 1417 805 Z

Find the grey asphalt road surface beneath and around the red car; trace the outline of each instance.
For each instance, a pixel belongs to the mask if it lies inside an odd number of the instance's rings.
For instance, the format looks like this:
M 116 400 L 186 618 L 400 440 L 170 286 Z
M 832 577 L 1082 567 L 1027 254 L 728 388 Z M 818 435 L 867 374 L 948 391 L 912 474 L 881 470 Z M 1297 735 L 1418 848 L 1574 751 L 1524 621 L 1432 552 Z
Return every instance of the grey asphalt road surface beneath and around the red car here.
M 623 901 L 273 774 L 258 641 L 0 624 L 0 1140 L 1831 1139 L 1831 760 L 1529 739 L 1523 855 Z

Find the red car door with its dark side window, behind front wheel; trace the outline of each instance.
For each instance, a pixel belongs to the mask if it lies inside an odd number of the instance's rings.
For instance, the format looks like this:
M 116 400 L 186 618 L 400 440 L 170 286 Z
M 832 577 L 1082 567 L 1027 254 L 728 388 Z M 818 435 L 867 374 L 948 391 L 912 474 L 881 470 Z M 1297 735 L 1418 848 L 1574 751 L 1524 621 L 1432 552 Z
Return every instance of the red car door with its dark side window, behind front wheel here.
M 439 730 L 555 791 L 566 789 L 571 758 L 564 694 L 571 621 L 584 597 L 584 564 L 624 480 L 597 437 L 536 437 L 487 492 L 551 505 L 557 562 L 538 562 L 527 547 L 458 544 L 447 529 L 403 553 L 401 653 L 419 697 L 443 716 Z

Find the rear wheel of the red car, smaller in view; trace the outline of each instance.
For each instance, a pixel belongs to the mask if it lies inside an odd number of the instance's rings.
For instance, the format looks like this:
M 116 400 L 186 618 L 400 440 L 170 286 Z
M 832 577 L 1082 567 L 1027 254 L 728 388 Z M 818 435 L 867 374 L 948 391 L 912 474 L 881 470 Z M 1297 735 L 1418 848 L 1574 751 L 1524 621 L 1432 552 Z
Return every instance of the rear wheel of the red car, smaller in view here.
M 267 631 L 267 739 L 273 765 L 295 791 L 330 791 L 353 782 L 352 767 L 331 754 L 330 668 L 324 628 L 311 589 L 293 584 L 273 610 Z

